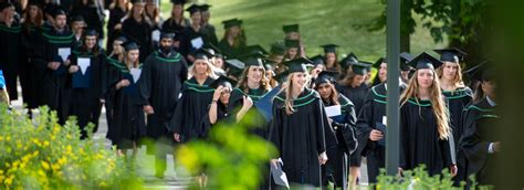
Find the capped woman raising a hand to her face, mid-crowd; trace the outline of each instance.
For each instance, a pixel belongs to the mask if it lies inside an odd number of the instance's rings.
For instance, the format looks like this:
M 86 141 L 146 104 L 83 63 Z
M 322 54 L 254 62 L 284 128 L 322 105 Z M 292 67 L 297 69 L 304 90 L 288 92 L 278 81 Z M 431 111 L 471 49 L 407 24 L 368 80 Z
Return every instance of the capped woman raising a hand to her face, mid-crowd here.
M 213 98 L 209 105 L 208 114 L 202 118 L 202 138 L 207 139 L 213 125 L 226 122 L 228 118 L 228 105 L 235 82 L 227 76 L 220 75 L 209 87 L 214 88 Z

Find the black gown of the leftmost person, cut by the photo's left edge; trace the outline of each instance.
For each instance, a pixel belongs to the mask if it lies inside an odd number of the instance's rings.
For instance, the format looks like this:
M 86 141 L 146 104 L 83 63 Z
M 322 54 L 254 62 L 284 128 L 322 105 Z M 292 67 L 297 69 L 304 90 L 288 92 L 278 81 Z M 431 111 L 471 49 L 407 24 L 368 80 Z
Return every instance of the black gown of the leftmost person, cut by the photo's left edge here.
M 19 75 L 19 55 L 21 50 L 22 27 L 13 22 L 7 27 L 0 22 L 0 70 L 3 71 L 3 77 L 11 101 L 18 99 L 17 78 Z

